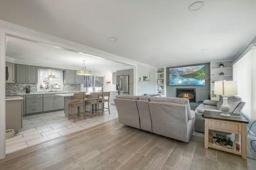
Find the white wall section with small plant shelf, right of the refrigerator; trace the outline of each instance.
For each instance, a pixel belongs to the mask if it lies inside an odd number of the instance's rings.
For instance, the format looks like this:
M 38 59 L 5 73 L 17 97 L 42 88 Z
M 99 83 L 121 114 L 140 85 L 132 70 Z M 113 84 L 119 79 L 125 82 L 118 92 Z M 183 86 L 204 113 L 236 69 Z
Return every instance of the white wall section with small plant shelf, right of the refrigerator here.
M 136 69 L 137 73 L 137 95 L 142 94 L 156 94 L 157 93 L 157 69 L 149 66 L 138 65 Z M 138 79 L 143 76 L 149 76 L 149 82 L 138 82 Z

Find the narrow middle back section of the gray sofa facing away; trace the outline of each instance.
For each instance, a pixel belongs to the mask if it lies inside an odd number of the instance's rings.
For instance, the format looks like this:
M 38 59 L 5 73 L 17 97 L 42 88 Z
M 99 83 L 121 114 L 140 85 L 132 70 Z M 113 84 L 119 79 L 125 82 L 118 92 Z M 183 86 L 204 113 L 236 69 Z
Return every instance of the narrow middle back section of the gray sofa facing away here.
M 144 98 L 145 99 L 145 98 Z M 140 128 L 152 132 L 151 115 L 147 100 L 137 100 Z

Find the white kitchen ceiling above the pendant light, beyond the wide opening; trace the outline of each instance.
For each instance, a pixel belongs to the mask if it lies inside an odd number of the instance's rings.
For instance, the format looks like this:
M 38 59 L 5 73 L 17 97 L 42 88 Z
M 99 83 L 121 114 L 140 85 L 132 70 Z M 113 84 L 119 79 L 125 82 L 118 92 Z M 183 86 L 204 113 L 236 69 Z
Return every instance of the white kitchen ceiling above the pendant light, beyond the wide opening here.
M 6 42 L 6 55 L 9 62 L 79 70 L 82 69 L 83 60 L 86 60 L 85 66 L 88 70 L 115 71 L 131 68 L 131 66 L 108 61 L 97 56 L 67 51 L 56 46 L 35 43 L 11 36 L 6 36 Z

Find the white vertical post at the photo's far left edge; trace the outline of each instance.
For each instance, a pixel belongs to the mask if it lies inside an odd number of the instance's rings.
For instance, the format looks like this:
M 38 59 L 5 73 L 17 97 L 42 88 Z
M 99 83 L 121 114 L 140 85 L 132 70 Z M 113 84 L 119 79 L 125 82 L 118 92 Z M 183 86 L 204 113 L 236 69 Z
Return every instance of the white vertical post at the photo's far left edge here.
M 0 30 L 0 159 L 5 157 L 5 33 Z

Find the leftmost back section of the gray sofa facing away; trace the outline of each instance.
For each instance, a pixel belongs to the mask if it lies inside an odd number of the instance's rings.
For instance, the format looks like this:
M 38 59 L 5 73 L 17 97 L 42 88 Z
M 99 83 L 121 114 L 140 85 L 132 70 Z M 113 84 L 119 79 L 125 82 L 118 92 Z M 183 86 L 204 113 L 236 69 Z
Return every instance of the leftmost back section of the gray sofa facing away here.
M 118 111 L 119 122 L 140 129 L 136 100 L 117 98 L 114 101 Z

